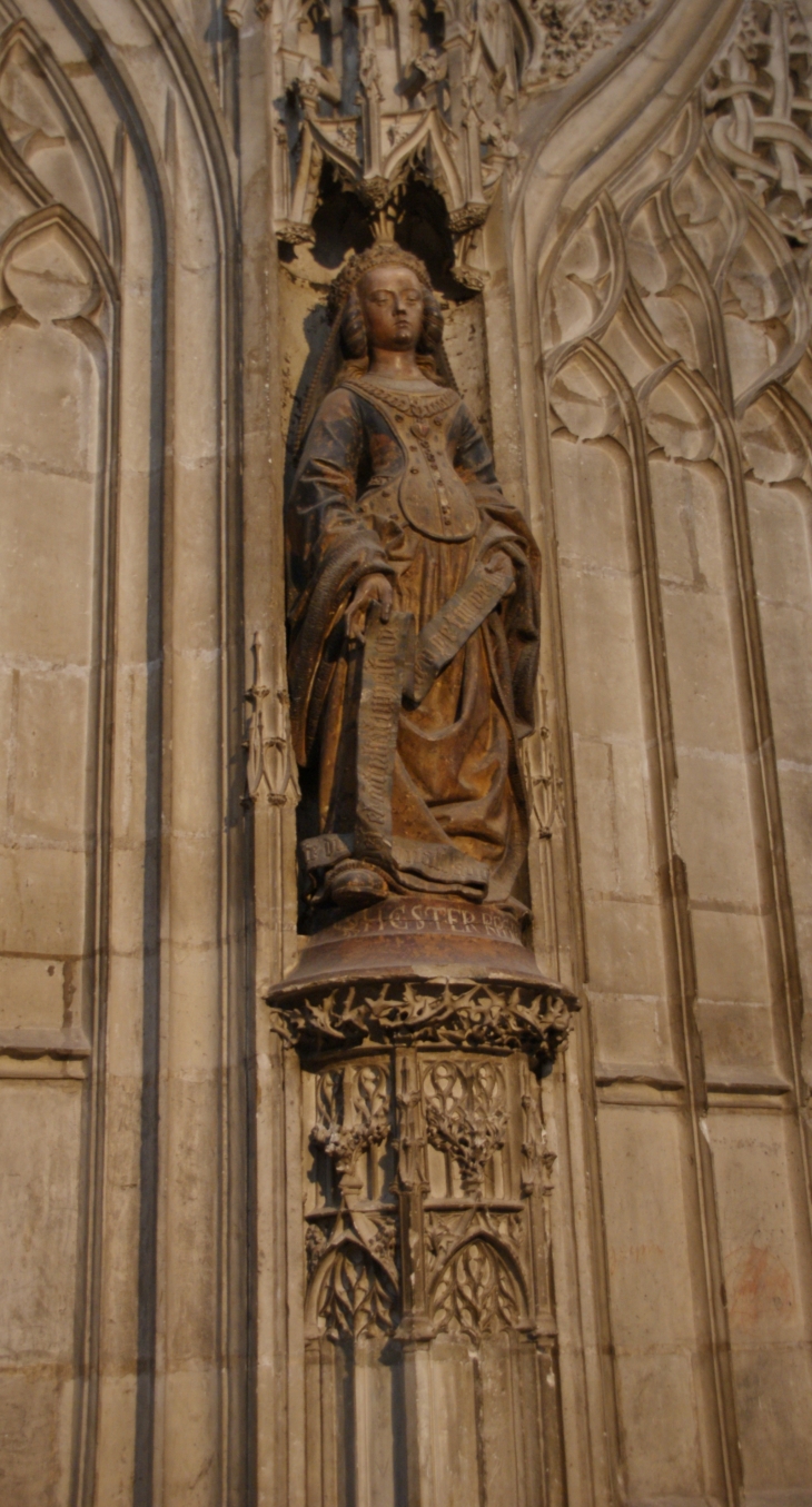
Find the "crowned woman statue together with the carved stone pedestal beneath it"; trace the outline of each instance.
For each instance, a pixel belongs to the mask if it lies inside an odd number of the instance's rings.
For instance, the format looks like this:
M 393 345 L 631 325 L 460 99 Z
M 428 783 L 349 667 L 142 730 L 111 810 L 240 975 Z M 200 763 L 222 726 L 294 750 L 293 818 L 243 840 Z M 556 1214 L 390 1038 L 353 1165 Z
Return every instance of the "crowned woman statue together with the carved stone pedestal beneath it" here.
M 285 508 L 304 939 L 270 996 L 304 1067 L 307 1499 L 541 1504 L 538 1076 L 575 1001 L 526 937 L 539 552 L 425 262 L 377 238 L 324 310 Z

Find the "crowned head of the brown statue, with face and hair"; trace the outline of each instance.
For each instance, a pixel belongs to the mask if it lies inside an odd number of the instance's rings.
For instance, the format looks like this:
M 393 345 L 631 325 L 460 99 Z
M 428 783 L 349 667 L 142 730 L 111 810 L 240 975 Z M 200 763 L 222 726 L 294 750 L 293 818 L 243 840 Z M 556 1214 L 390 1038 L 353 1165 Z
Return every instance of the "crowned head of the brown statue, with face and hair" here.
M 428 271 L 393 243 L 378 241 L 354 256 L 336 279 L 333 297 L 351 360 L 363 360 L 371 350 L 431 356 L 440 347 L 443 315 Z

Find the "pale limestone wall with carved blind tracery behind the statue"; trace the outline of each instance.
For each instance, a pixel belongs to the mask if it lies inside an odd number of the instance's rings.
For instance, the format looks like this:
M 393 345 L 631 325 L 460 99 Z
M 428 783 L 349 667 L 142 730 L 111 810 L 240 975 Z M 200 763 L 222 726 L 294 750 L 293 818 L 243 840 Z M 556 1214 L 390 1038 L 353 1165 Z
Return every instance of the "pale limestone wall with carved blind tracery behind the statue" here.
M 452 136 L 395 234 L 544 553 L 533 945 L 582 1011 L 533 1507 L 812 1502 L 807 11 L 0 0 L 3 1502 L 404 1502 L 375 1397 L 365 1471 L 307 1484 L 313 1084 L 265 1005 L 362 23 L 384 142 L 431 23 Z M 426 1426 L 426 1504 L 512 1507 Z

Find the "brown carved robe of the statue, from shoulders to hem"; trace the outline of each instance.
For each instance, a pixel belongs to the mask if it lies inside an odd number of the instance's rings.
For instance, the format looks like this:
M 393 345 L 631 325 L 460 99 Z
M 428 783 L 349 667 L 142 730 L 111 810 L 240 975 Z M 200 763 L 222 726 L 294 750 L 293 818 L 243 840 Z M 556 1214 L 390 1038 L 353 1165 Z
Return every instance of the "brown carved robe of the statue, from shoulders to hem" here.
M 539 555 L 458 393 L 371 377 L 333 389 L 307 436 L 286 546 L 291 725 L 313 770 L 304 867 L 319 874 L 354 853 L 399 892 L 506 901 L 527 842 L 517 744 L 533 723 Z M 423 663 L 420 689 L 398 693 L 386 851 L 368 850 L 359 818 L 375 613 L 366 648 L 343 624 L 372 571 L 390 577 L 393 619 L 413 619 Z M 414 663 L 413 643 L 405 653 Z

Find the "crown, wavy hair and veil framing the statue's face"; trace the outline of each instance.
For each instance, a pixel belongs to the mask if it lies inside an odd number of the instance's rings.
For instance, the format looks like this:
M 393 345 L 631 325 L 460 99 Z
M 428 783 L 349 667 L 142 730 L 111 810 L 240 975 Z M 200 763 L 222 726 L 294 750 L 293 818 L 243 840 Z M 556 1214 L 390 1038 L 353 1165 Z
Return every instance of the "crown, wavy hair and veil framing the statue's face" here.
M 443 348 L 443 310 L 431 286 L 425 262 L 404 252 L 393 241 L 375 241 L 368 252 L 353 256 L 333 282 L 327 300 L 331 319 L 330 335 L 316 366 L 295 436 L 295 454 L 301 451 L 307 429 L 327 393 L 343 377 L 359 377 L 369 365 L 366 329 L 359 298 L 359 283 L 375 267 L 408 267 L 423 289 L 423 330 L 417 345 L 417 365 L 425 377 L 440 387 L 456 387 Z M 342 360 L 343 357 L 343 360 Z

